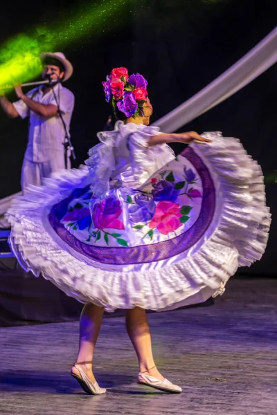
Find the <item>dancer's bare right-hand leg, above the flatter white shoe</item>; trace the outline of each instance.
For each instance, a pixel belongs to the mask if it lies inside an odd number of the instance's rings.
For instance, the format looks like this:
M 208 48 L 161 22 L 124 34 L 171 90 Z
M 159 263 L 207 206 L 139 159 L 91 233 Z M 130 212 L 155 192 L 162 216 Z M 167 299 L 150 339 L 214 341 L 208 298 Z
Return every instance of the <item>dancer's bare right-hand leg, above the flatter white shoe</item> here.
M 139 371 L 163 380 L 154 363 L 150 329 L 143 308 L 136 307 L 126 311 L 126 328 L 139 359 Z

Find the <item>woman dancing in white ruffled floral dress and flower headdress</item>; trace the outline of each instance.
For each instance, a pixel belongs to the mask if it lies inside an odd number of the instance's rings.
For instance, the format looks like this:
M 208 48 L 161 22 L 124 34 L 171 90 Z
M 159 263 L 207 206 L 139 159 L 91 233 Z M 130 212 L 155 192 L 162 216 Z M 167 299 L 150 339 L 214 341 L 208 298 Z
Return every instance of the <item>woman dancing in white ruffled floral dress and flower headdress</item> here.
M 148 127 L 147 84 L 114 68 L 103 86 L 120 120 L 98 133 L 88 169 L 46 179 L 8 212 L 21 266 L 85 303 L 71 374 L 89 394 L 106 391 L 93 376 L 93 352 L 103 312 L 116 308 L 126 309 L 139 382 L 181 392 L 154 364 L 145 310 L 223 293 L 238 266 L 260 259 L 267 243 L 260 166 L 239 140 L 219 132 Z M 176 157 L 170 142 L 189 145 Z

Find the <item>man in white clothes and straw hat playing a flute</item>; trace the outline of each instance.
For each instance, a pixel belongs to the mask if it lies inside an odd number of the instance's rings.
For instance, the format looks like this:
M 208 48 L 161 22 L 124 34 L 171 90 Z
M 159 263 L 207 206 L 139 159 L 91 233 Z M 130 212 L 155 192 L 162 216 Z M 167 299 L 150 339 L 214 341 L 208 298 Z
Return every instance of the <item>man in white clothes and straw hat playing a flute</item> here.
M 44 53 L 42 62 L 45 65 L 42 77 L 53 82 L 53 90 L 46 84 L 24 94 L 21 86 L 16 86 L 15 92 L 19 100 L 13 103 L 5 95 L 0 96 L 1 107 L 10 118 L 28 116 L 30 120 L 28 145 L 21 170 L 23 191 L 28 185 L 41 185 L 42 178 L 64 169 L 65 154 L 67 167 L 70 167 L 70 150 L 66 149 L 65 153 L 65 131 L 57 111 L 60 109 L 69 133 L 74 95 L 61 82 L 71 77 L 73 66 L 60 52 Z

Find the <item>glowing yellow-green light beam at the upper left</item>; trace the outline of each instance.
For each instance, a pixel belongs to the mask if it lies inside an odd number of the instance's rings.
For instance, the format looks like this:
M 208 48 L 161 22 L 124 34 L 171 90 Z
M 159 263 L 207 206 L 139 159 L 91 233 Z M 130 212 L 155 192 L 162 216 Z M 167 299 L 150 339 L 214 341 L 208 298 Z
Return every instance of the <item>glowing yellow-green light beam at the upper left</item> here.
M 0 49 L 0 93 L 7 85 L 32 80 L 42 71 L 40 55 L 62 50 L 84 37 L 103 33 L 121 24 L 123 11 L 134 0 L 102 0 L 98 6 L 83 7 L 51 28 L 40 26 L 34 35 L 17 35 Z

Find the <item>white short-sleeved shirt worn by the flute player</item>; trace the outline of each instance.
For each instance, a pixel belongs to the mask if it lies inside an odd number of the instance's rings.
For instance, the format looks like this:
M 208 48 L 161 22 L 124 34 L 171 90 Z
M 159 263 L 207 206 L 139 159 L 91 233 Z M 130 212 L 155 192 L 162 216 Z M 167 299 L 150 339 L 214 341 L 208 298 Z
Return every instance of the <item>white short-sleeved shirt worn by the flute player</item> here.
M 69 125 L 74 108 L 74 95 L 60 83 L 55 84 L 54 91 L 69 134 Z M 57 105 L 53 91 L 50 90 L 43 95 L 42 86 L 28 91 L 26 95 L 40 104 Z M 23 100 L 16 101 L 13 105 L 21 118 L 30 117 L 25 158 L 36 163 L 46 162 L 53 157 L 64 158 L 64 127 L 60 117 L 58 115 L 50 118 L 39 116 L 30 111 Z

